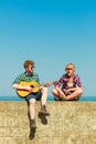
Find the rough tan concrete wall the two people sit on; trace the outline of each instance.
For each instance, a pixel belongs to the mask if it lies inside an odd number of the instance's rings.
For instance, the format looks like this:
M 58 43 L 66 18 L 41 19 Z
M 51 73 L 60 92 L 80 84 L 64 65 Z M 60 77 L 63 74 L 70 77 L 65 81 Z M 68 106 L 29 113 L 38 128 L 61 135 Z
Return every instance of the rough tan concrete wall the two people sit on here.
M 0 102 L 0 144 L 96 144 L 95 102 L 47 102 L 47 124 L 38 117 L 36 132 L 29 140 L 25 102 Z

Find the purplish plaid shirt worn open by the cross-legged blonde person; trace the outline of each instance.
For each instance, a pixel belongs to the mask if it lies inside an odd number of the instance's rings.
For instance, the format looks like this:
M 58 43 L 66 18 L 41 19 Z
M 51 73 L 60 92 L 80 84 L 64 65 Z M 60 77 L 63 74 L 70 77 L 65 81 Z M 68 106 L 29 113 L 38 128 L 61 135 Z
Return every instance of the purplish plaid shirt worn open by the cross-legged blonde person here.
M 61 86 L 62 91 L 65 92 L 67 90 L 67 83 L 68 83 L 68 75 L 67 73 L 63 74 L 62 78 L 56 83 L 57 86 Z M 82 82 L 79 80 L 79 76 L 74 74 L 73 76 L 73 88 L 79 86 L 82 88 Z

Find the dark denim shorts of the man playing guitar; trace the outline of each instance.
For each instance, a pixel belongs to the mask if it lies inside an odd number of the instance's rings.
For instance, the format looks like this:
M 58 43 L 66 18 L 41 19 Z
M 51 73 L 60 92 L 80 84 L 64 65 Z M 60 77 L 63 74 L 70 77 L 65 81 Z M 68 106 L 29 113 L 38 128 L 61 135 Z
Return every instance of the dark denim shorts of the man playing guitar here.
M 26 97 L 25 97 L 25 101 L 30 101 L 31 99 L 35 99 L 36 101 L 40 101 L 41 100 L 41 91 L 39 91 L 38 93 L 32 93 L 32 94 L 29 94 Z

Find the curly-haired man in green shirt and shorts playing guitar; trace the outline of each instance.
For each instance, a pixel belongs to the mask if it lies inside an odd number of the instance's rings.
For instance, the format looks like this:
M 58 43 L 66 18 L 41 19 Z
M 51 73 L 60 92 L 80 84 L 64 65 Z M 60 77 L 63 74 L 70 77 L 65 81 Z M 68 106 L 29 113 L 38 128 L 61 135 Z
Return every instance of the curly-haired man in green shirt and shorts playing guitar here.
M 21 73 L 13 82 L 12 88 L 17 91 L 21 92 L 28 92 L 29 94 L 25 96 L 25 101 L 29 105 L 29 117 L 30 117 L 30 128 L 35 128 L 35 102 L 41 100 L 41 111 L 40 114 L 49 115 L 46 111 L 46 100 L 47 100 L 47 88 L 41 86 L 39 88 L 38 92 L 34 92 L 33 85 L 30 84 L 20 84 L 21 82 L 36 82 L 40 83 L 39 74 L 33 72 L 34 70 L 34 62 L 31 60 L 26 60 L 23 64 L 25 72 Z M 32 138 L 32 134 L 30 134 L 30 138 Z

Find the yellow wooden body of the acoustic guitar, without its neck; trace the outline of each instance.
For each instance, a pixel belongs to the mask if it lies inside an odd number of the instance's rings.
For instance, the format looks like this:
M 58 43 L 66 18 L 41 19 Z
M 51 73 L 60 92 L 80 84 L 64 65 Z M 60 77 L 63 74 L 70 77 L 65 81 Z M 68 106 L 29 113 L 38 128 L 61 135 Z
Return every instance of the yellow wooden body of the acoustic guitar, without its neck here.
M 40 86 L 38 84 L 38 82 L 35 81 L 31 81 L 31 82 L 25 82 L 25 81 L 21 81 L 19 83 L 21 86 L 31 86 L 33 89 L 32 93 L 36 93 L 40 90 Z M 25 97 L 28 96 L 31 92 L 29 91 L 24 91 L 24 90 L 18 90 L 17 91 L 18 95 L 21 97 Z

